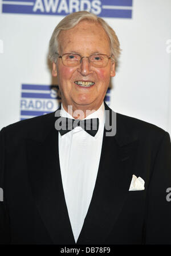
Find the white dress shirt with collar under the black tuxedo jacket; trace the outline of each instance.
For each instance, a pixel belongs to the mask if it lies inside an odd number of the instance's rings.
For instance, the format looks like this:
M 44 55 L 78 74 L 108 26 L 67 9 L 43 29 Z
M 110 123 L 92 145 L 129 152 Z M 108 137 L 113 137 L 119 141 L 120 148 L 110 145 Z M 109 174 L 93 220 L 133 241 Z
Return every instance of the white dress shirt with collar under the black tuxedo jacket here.
M 61 106 L 60 116 L 73 117 Z M 82 230 L 91 202 L 99 168 L 104 132 L 104 103 L 86 117 L 99 118 L 95 137 L 82 127 L 75 127 L 65 135 L 59 133 L 59 161 L 68 215 L 75 242 Z

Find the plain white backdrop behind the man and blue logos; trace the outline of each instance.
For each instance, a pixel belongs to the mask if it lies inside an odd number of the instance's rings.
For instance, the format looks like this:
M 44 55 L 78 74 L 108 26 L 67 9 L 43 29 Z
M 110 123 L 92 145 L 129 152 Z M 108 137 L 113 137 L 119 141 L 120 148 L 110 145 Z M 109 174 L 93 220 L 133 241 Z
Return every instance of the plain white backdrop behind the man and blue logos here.
M 131 8 L 132 18 L 105 18 L 123 49 L 111 81 L 109 105 L 116 112 L 156 124 L 171 135 L 171 1 L 134 0 Z M 22 110 L 39 109 L 43 113 L 58 106 L 52 98 L 25 100 L 22 92 L 47 91 L 46 87 L 31 91 L 29 86 L 29 90 L 27 86 L 22 90 L 22 84 L 57 84 L 51 78 L 47 51 L 52 31 L 63 17 L 2 13 L 1 0 L 0 128 L 21 117 L 31 117 L 26 112 L 21 116 Z

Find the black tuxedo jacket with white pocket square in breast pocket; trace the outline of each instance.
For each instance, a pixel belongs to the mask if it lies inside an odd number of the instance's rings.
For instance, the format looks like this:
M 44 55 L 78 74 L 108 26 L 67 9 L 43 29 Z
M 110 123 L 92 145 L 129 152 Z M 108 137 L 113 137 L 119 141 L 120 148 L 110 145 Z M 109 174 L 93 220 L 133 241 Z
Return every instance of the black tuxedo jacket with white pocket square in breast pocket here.
M 105 109 L 112 112 L 107 104 Z M 75 244 L 55 120 L 50 113 L 1 131 L 0 243 Z M 170 244 L 169 134 L 119 113 L 116 120 L 115 136 L 105 136 L 104 129 L 95 189 L 77 244 Z M 133 174 L 143 178 L 145 190 L 129 191 Z

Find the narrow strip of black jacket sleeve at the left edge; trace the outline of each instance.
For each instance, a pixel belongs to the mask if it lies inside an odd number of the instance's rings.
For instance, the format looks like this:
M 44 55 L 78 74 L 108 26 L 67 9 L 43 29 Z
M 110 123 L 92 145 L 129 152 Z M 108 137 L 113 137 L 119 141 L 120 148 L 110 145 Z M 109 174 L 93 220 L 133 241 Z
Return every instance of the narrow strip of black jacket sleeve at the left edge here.
M 10 222 L 5 193 L 5 128 L 0 132 L 0 245 L 10 243 Z

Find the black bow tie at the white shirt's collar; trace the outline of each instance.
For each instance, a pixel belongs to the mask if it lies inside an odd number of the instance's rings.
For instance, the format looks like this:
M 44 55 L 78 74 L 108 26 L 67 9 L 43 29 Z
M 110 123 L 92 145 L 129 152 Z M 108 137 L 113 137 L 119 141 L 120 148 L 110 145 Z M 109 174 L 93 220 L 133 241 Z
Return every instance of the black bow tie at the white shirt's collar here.
M 60 132 L 60 135 L 64 135 L 77 126 L 82 127 L 84 131 L 94 137 L 99 129 L 99 118 L 79 120 L 60 116 L 55 128 Z

